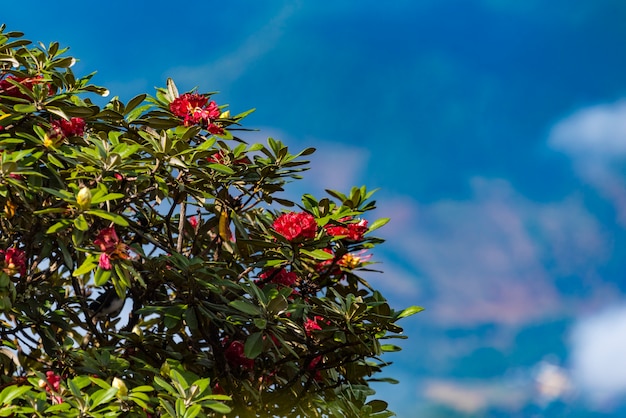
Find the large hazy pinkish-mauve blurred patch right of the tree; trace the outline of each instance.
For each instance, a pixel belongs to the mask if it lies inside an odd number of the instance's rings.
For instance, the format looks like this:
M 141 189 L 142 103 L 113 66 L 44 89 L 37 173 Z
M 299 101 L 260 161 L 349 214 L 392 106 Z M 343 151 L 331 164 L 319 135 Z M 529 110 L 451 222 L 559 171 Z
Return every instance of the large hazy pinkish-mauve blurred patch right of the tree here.
M 475 179 L 468 200 L 381 202 L 386 245 L 427 279 L 430 317 L 517 324 L 572 309 L 555 276 L 585 275 L 608 256 L 594 217 L 575 198 L 537 203 L 502 180 Z

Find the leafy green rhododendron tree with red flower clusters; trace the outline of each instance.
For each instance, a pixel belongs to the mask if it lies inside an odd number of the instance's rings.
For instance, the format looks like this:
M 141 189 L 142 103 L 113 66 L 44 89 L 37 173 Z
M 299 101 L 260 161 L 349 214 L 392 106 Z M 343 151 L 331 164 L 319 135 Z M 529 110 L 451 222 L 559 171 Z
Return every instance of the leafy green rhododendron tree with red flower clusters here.
M 396 311 L 365 187 L 299 204 L 280 141 L 173 81 L 103 108 L 0 27 L 0 416 L 385 417 Z M 391 380 L 391 379 L 389 379 Z

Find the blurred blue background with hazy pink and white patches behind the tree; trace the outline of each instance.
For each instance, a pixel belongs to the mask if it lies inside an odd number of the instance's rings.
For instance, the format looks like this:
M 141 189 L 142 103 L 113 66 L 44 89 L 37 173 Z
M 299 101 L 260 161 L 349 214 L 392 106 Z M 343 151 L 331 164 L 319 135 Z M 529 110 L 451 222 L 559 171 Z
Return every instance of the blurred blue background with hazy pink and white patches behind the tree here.
M 379 188 L 404 417 L 626 416 L 623 0 L 5 2 L 124 100 L 173 77 Z M 373 221 L 372 216 L 371 221 Z

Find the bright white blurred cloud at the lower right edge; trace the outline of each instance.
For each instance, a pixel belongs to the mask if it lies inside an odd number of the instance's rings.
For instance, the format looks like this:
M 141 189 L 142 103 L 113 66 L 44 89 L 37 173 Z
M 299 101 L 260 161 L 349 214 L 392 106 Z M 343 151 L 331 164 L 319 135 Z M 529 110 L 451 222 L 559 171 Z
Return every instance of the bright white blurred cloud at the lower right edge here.
M 595 401 L 626 395 L 626 306 L 582 319 L 571 336 L 571 369 L 579 389 Z

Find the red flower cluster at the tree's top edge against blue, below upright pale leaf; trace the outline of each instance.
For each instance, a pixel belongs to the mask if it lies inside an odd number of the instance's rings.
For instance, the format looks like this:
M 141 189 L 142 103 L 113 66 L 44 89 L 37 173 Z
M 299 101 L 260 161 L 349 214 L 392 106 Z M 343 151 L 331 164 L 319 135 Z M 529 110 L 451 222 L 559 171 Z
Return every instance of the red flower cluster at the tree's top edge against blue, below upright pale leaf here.
M 207 130 L 215 135 L 224 133 L 224 129 L 215 124 L 220 117 L 217 103 L 197 93 L 185 93 L 170 103 L 170 111 L 183 119 L 185 126 L 206 125 Z

